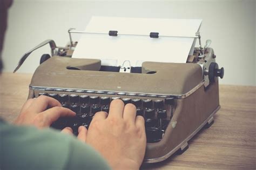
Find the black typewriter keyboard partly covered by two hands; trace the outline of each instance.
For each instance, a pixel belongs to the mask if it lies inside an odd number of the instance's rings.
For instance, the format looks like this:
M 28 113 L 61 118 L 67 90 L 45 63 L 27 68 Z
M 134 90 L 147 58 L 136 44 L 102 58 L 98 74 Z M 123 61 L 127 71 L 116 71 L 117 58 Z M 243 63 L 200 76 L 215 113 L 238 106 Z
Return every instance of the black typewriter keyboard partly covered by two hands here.
M 111 100 L 121 99 L 124 104 L 132 103 L 137 107 L 137 115 L 145 119 L 147 142 L 158 142 L 163 138 L 165 129 L 173 115 L 174 98 L 152 94 L 134 94 L 121 92 L 83 91 L 70 89 L 45 89 L 35 91 L 35 96 L 49 96 L 57 99 L 63 107 L 76 112 L 76 117 L 59 118 L 51 125 L 62 130 L 71 127 L 78 134 L 78 127 L 90 126 L 92 117 L 99 111 L 109 112 Z

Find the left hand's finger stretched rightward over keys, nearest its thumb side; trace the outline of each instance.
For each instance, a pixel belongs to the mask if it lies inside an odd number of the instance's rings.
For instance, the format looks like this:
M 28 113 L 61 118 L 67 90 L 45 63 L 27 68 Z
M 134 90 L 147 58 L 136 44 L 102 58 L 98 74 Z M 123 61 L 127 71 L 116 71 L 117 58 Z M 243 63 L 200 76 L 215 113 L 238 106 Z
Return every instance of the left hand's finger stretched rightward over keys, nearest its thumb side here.
M 43 125 L 44 126 L 50 126 L 54 121 L 56 121 L 59 117 L 73 117 L 76 115 L 75 112 L 71 111 L 69 108 L 65 107 L 52 107 L 49 108 L 48 110 L 41 112 L 39 114 L 43 114 L 44 116 L 44 121 Z

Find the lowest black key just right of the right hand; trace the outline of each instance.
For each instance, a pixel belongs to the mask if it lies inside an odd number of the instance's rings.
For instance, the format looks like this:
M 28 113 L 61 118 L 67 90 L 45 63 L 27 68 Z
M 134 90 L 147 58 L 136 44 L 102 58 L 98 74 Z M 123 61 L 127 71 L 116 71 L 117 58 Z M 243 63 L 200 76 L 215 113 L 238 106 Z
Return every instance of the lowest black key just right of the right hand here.
M 147 142 L 158 142 L 161 140 L 163 131 L 157 127 L 146 127 Z

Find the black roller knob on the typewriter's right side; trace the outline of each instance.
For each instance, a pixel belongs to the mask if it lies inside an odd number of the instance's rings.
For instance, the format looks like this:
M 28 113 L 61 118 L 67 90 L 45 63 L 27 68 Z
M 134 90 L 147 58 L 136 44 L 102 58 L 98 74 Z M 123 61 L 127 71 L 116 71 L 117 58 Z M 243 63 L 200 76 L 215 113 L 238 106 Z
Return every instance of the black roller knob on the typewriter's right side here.
M 210 80 L 210 83 L 213 83 L 215 81 L 215 77 L 223 78 L 224 77 L 224 68 L 221 67 L 221 69 L 219 69 L 218 64 L 212 62 L 210 64 L 209 70 L 208 70 L 208 78 Z

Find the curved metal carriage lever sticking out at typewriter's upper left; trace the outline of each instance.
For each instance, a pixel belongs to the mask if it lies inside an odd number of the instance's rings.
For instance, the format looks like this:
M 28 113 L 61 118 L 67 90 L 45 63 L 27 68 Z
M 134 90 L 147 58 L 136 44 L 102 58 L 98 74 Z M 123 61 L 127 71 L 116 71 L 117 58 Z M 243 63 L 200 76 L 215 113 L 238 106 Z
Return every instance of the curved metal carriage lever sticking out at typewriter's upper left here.
M 45 44 L 48 44 L 48 43 L 50 44 L 50 47 L 51 47 L 51 56 L 53 56 L 54 55 L 54 50 L 56 49 L 56 44 L 55 44 L 54 40 L 47 39 L 44 42 L 42 42 L 41 44 L 38 44 L 37 46 L 33 47 L 33 49 L 31 49 L 30 51 L 26 52 L 25 55 L 22 56 L 22 58 L 19 60 L 19 63 L 17 64 L 17 66 L 16 66 L 16 68 L 14 70 L 14 73 L 19 69 L 19 67 L 21 67 L 21 65 L 24 63 L 26 58 L 28 58 L 29 55 L 33 51 L 39 49 L 39 47 L 42 47 L 42 46 L 44 46 Z

